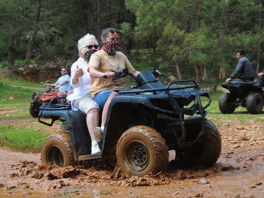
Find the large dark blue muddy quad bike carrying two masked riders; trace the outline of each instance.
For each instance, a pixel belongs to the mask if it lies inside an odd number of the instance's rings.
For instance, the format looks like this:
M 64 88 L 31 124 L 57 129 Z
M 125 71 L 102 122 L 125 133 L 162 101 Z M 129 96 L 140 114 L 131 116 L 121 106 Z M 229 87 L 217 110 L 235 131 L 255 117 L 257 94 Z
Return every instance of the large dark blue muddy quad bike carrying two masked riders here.
M 102 153 L 91 154 L 84 113 L 71 110 L 70 104 L 41 106 L 40 123 L 52 126 L 56 120 L 63 122 L 63 131 L 45 140 L 42 164 L 66 167 L 80 160 L 117 159 L 124 173 L 142 177 L 165 171 L 168 150 L 175 150 L 173 167 L 213 165 L 221 152 L 221 138 L 216 126 L 205 118 L 211 103 L 209 93 L 198 90 L 201 85 L 194 80 L 172 81 L 165 86 L 157 75 L 155 68 L 137 77 L 127 69 L 116 72 L 112 79 L 130 76 L 136 86 L 121 89 L 112 99 L 101 136 Z M 206 99 L 205 106 L 201 97 Z M 41 120 L 42 116 L 50 116 L 51 122 Z

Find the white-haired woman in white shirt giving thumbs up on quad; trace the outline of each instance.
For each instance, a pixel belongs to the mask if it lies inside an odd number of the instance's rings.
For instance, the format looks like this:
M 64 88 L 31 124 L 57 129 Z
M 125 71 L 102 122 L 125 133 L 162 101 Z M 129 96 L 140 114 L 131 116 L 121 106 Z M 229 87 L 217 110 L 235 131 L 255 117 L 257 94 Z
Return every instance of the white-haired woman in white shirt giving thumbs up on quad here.
M 86 34 L 78 41 L 79 59 L 72 64 L 72 78 L 70 85 L 74 92 L 67 97 L 72 102 L 73 110 L 81 110 L 87 114 L 86 122 L 91 136 L 91 154 L 101 153 L 101 150 L 93 134 L 93 129 L 99 124 L 100 107 L 91 98 L 91 79 L 87 72 L 91 55 L 99 49 L 98 41 L 94 35 Z M 116 82 L 120 83 L 120 82 Z

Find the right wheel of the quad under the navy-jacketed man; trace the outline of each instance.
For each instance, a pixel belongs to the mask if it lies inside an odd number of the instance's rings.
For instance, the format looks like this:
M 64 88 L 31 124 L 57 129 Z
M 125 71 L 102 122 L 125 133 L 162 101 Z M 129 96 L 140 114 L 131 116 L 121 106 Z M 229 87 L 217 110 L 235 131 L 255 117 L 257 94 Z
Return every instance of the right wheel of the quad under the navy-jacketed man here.
M 246 108 L 250 114 L 260 114 L 263 109 L 263 97 L 260 93 L 252 92 L 246 98 Z

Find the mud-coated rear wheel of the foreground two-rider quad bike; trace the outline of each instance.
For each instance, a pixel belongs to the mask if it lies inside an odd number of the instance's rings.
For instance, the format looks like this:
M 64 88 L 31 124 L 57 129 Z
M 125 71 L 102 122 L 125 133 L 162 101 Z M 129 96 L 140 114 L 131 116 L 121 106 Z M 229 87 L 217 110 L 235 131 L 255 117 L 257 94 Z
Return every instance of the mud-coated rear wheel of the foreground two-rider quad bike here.
M 41 149 L 41 161 L 43 165 L 55 165 L 66 167 L 75 165 L 72 142 L 68 132 L 51 134 L 44 142 Z

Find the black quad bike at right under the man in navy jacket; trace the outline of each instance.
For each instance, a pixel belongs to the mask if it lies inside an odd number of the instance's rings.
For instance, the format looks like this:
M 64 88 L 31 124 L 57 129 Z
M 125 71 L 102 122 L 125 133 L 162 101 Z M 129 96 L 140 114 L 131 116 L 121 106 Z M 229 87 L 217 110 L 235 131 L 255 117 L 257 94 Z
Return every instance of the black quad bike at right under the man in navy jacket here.
M 223 114 L 232 114 L 238 106 L 246 107 L 250 114 L 260 114 L 263 109 L 264 73 L 258 73 L 254 82 L 232 80 L 221 83 L 230 93 L 223 93 L 218 101 L 219 110 Z

